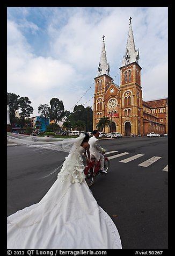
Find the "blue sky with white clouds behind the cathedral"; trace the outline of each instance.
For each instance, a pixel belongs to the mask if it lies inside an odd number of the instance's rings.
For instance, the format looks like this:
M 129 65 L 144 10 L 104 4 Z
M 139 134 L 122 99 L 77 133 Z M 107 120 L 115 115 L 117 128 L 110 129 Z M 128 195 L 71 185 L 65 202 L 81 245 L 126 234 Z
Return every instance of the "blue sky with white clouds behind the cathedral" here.
M 92 106 L 103 35 L 110 76 L 120 83 L 129 31 L 139 49 L 144 101 L 168 96 L 167 7 L 8 7 L 7 91 L 38 106 Z M 49 105 L 50 106 L 50 105 Z

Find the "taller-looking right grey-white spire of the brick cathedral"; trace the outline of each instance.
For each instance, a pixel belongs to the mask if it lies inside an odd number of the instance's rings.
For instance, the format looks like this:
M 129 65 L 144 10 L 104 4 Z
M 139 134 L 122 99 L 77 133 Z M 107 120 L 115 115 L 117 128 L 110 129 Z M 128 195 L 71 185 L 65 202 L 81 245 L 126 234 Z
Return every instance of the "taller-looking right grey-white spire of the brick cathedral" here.
M 139 60 L 139 51 L 135 50 L 134 37 L 133 37 L 133 29 L 132 29 L 132 17 L 129 18 L 129 33 L 128 33 L 128 41 L 126 46 L 126 53 L 123 56 L 122 64 L 126 66 L 130 63 L 137 62 Z

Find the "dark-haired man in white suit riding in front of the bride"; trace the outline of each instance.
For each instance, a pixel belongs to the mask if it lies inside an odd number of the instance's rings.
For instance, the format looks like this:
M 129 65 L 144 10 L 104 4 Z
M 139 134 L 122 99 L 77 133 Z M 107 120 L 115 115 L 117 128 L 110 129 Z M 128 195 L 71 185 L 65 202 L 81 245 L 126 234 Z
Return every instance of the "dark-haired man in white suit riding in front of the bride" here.
M 89 139 L 90 155 L 92 158 L 96 158 L 97 161 L 100 160 L 100 172 L 107 173 L 104 170 L 105 158 L 103 154 L 105 151 L 103 147 L 100 146 L 99 140 L 97 139 L 100 133 L 98 130 L 93 130 L 92 134 L 93 136 Z

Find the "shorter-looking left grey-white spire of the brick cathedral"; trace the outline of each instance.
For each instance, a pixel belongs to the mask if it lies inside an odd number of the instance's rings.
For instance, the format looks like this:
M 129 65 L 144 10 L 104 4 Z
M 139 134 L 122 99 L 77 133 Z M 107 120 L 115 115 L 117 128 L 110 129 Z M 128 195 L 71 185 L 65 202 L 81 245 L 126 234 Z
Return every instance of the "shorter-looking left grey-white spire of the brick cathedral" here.
M 100 63 L 98 66 L 98 76 L 100 75 L 110 75 L 110 63 L 107 63 L 106 58 L 106 50 L 105 50 L 105 35 L 103 35 L 103 44 L 102 44 L 102 51 L 101 51 L 101 58 Z

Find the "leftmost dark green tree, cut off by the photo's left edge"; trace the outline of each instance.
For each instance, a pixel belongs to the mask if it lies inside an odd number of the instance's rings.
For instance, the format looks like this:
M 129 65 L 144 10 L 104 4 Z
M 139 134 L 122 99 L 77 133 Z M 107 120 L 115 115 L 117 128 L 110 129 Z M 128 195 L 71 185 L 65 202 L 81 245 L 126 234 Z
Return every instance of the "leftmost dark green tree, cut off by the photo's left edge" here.
M 10 109 L 10 122 L 14 122 L 15 111 L 19 109 L 19 95 L 7 93 L 7 103 Z

